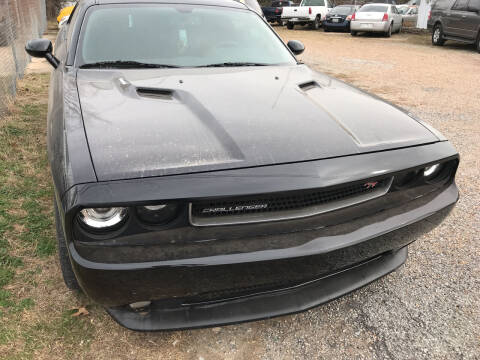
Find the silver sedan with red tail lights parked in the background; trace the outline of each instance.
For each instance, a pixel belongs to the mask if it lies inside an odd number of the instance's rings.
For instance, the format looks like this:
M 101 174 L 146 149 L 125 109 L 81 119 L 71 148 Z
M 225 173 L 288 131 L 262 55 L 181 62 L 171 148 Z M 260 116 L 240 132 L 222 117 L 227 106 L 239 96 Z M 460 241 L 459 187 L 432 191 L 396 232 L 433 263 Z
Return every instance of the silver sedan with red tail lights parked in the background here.
M 355 36 L 359 32 L 380 32 L 390 37 L 392 32 L 400 32 L 402 26 L 402 15 L 395 5 L 366 4 L 352 16 L 350 33 Z

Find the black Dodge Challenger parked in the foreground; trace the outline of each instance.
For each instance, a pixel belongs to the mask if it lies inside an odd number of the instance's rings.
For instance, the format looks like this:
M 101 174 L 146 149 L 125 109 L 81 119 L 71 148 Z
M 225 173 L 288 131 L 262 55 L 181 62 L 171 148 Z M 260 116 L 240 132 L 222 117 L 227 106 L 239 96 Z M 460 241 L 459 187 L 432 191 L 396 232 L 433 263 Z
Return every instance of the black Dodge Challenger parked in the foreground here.
M 69 288 L 162 330 L 302 311 L 399 267 L 458 199 L 410 113 L 297 61 L 233 0 L 80 0 L 52 44 Z

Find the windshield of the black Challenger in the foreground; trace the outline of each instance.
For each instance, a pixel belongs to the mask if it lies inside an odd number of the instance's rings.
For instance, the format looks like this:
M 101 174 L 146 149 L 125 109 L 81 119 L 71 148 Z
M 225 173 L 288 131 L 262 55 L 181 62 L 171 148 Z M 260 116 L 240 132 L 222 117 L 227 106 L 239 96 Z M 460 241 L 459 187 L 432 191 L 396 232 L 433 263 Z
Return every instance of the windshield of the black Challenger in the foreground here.
M 296 63 L 253 11 L 184 4 L 92 6 L 82 25 L 77 65 L 105 62 L 124 67 Z

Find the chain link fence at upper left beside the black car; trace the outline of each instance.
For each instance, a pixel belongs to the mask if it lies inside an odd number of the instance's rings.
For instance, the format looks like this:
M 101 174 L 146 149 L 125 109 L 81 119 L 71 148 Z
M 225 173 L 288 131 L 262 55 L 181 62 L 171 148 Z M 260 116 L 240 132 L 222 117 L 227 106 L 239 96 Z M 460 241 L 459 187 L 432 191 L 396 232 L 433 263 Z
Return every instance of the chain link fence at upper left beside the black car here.
M 0 115 L 30 61 L 26 42 L 40 37 L 46 26 L 45 0 L 0 0 Z

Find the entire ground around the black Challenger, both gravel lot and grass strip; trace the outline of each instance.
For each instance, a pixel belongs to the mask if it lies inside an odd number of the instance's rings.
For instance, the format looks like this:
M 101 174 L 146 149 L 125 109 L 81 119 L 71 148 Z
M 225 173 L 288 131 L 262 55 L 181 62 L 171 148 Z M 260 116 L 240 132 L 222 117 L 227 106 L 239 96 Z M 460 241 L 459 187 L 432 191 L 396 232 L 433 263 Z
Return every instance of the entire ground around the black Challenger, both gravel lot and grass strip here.
M 278 28 L 277 28 L 278 29 Z M 428 38 L 279 29 L 303 61 L 406 107 L 461 154 L 461 199 L 405 266 L 305 313 L 221 328 L 133 333 L 64 287 L 44 153 L 48 75 L 0 120 L 0 357 L 86 359 L 480 358 L 480 54 Z M 38 70 L 38 69 L 37 69 Z M 89 314 L 72 316 L 86 306 Z

